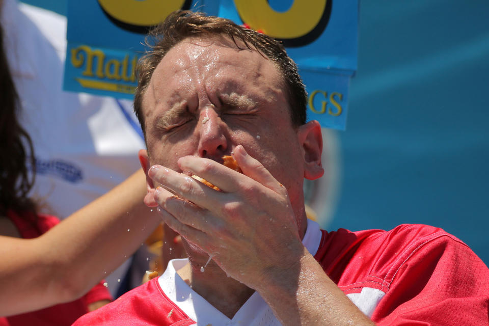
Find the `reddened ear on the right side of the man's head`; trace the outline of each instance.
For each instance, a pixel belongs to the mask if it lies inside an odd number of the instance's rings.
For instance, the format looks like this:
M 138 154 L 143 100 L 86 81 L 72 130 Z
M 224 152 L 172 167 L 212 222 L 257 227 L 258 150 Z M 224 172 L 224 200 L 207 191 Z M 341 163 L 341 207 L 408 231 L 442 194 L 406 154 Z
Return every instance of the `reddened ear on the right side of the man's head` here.
M 304 177 L 309 180 L 320 178 L 324 174 L 321 166 L 322 134 L 321 126 L 311 120 L 300 126 L 297 136 L 303 149 Z

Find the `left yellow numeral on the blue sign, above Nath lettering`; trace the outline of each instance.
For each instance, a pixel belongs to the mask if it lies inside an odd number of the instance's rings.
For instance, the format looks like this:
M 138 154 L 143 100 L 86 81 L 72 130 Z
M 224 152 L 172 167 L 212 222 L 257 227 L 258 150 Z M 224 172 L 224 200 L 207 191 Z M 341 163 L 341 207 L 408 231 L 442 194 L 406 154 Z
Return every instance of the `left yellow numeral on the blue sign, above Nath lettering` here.
M 98 3 L 106 13 L 126 24 L 152 26 L 181 9 L 185 0 L 98 0 Z

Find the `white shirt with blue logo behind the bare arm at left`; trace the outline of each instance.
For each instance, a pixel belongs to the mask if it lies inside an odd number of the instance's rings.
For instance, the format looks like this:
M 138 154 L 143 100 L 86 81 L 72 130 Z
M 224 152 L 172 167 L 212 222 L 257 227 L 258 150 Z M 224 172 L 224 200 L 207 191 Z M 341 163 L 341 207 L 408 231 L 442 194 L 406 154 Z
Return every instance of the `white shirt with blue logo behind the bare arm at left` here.
M 37 159 L 31 196 L 41 212 L 60 219 L 83 207 L 136 171 L 144 141 L 122 110 L 132 103 L 62 90 L 66 17 L 4 0 L 4 47 L 19 94 L 21 123 Z M 46 204 L 46 205 L 43 205 Z M 125 271 L 107 278 L 114 294 Z

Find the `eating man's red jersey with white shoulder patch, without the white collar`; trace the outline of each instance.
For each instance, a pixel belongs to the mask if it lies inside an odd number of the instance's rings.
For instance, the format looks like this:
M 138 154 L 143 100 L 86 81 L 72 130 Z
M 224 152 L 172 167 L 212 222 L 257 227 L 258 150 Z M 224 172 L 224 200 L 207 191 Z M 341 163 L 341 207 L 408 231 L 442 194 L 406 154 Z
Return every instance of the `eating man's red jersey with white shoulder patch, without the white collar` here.
M 489 269 L 453 235 L 425 225 L 321 233 L 314 258 L 377 325 L 489 325 Z M 195 323 L 153 279 L 74 325 Z

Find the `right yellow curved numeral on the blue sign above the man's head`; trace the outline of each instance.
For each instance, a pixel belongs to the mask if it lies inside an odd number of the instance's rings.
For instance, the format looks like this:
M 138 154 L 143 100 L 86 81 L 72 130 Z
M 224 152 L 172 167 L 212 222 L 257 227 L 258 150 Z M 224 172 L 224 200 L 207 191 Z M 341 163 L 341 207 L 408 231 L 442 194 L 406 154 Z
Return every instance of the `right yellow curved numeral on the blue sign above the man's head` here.
M 294 0 L 286 12 L 275 11 L 267 0 L 234 0 L 234 4 L 242 20 L 252 29 L 262 30 L 271 37 L 293 39 L 316 27 L 328 1 L 331 0 Z

